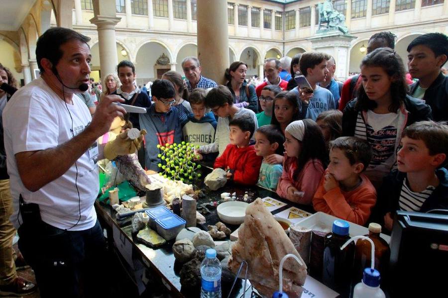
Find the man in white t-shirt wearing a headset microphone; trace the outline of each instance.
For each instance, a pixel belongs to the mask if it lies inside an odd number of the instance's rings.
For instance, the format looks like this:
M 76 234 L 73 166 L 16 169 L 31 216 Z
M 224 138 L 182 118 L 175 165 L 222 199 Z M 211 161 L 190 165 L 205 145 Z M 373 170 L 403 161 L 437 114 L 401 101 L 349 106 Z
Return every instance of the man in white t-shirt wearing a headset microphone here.
M 104 294 L 93 284 L 104 285 L 105 272 L 98 270 L 107 265 L 94 208 L 102 153 L 96 140 L 125 110 L 112 103 L 123 99 L 106 96 L 92 118 L 73 96 L 87 90 L 89 40 L 71 29 L 47 30 L 36 47 L 40 78 L 17 91 L 3 111 L 10 220 L 42 297 Z

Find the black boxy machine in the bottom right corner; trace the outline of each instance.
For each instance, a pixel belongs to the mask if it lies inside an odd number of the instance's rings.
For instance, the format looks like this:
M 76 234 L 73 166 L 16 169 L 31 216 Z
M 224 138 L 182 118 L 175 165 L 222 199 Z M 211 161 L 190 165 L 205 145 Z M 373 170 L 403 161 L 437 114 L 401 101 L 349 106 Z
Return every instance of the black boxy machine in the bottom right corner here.
M 447 290 L 448 210 L 438 211 L 397 211 L 390 239 L 393 297 L 445 295 L 442 293 Z

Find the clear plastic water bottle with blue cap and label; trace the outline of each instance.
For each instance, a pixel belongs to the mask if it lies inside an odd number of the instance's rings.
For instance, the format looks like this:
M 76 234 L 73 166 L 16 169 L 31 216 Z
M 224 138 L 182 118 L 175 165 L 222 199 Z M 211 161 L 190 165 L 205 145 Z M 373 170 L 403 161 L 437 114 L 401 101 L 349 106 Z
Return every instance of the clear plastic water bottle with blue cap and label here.
M 216 250 L 209 248 L 201 263 L 201 298 L 221 298 L 221 272 Z

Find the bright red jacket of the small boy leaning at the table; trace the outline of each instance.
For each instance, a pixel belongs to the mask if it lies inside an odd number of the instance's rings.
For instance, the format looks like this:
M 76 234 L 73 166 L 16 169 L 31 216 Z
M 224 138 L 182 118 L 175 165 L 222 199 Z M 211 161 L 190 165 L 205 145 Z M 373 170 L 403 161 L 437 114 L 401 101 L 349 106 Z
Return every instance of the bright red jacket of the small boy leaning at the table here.
M 255 154 L 253 145 L 238 148 L 228 144 L 223 154 L 215 160 L 214 168 L 227 167 L 233 171 L 233 181 L 239 184 L 255 185 L 260 174 L 262 156 Z

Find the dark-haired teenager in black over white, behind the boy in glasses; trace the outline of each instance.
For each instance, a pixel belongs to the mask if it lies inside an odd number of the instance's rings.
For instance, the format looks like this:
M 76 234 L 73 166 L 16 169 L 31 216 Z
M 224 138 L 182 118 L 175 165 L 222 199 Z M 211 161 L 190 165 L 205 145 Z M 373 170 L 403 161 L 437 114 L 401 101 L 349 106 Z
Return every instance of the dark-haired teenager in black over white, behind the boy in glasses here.
M 144 92 L 140 92 L 140 89 L 134 85 L 136 78 L 134 64 L 128 60 L 123 60 L 118 63 L 116 71 L 118 72 L 121 86 L 112 94 L 122 97 L 125 104 L 150 107 L 151 99 L 149 99 L 149 96 Z M 131 121 L 132 127 L 140 129 L 137 113 L 130 113 L 129 121 Z

